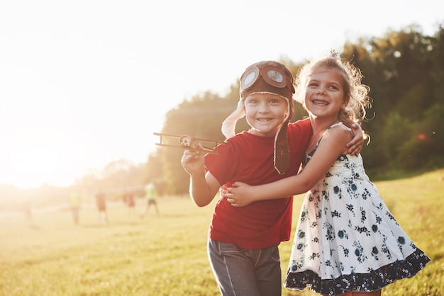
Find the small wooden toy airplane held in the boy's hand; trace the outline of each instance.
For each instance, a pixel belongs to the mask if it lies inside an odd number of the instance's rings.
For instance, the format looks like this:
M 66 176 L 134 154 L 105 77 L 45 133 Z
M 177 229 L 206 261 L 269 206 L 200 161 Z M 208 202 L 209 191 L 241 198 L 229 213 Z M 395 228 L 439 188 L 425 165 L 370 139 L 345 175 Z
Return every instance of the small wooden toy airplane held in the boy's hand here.
M 217 145 L 223 144 L 223 142 L 221 141 L 199 139 L 195 137 L 189 137 L 186 135 L 185 136 L 167 135 L 167 134 L 161 134 L 159 132 L 155 132 L 154 135 L 160 136 L 160 142 L 156 143 L 157 146 L 175 147 L 175 148 L 182 148 L 194 151 L 208 152 L 212 154 L 221 154 L 220 152 L 216 151 Z M 173 140 L 175 141 L 173 142 Z M 197 147 L 198 143 L 201 143 L 203 149 L 199 149 Z M 209 144 L 209 143 L 212 143 L 212 147 L 204 146 L 204 144 Z

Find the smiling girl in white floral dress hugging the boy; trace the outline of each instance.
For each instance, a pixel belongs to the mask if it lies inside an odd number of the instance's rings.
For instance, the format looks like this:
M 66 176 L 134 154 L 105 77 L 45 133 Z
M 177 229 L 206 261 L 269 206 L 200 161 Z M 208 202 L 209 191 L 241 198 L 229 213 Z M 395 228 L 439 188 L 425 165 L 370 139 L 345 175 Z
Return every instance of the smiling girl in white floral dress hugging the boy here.
M 296 98 L 303 98 L 313 136 L 304 169 L 274 183 L 235 182 L 226 195 L 234 207 L 306 192 L 284 286 L 323 295 L 381 295 L 381 289 L 416 275 L 430 258 L 407 237 L 365 174 L 360 155 L 347 154 L 352 134 L 370 105 L 359 69 L 336 52 L 301 68 Z M 316 154 L 315 154 L 316 152 Z

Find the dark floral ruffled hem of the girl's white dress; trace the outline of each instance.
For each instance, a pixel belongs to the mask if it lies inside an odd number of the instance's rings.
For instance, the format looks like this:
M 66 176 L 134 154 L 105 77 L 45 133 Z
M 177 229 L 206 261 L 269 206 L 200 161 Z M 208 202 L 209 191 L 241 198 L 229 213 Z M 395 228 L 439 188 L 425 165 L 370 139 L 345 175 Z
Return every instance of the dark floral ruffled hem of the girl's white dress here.
M 395 280 L 411 278 L 421 271 L 429 261 L 431 259 L 423 251 L 416 249 L 403 261 L 390 263 L 368 273 L 341 275 L 331 280 L 321 280 L 318 274 L 313 271 L 288 272 L 284 287 L 292 290 L 304 290 L 309 286 L 311 290 L 323 295 L 340 295 L 346 291 L 370 292 L 382 289 L 394 283 Z

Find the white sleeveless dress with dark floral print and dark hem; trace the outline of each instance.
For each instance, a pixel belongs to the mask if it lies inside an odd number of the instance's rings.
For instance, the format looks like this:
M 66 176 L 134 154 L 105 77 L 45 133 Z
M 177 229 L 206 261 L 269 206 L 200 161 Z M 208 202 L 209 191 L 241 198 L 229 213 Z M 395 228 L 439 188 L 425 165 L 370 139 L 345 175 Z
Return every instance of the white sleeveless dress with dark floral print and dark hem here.
M 379 290 L 428 261 L 382 201 L 361 156 L 340 155 L 306 194 L 284 286 L 323 295 Z

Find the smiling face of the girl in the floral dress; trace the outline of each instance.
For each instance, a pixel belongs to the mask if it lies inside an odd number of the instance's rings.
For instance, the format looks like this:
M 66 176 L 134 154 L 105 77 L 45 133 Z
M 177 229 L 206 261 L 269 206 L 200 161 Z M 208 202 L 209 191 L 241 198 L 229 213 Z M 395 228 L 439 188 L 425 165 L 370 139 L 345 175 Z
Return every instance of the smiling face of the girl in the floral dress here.
M 337 120 L 344 99 L 343 76 L 335 69 L 317 69 L 307 81 L 304 106 L 313 118 Z

